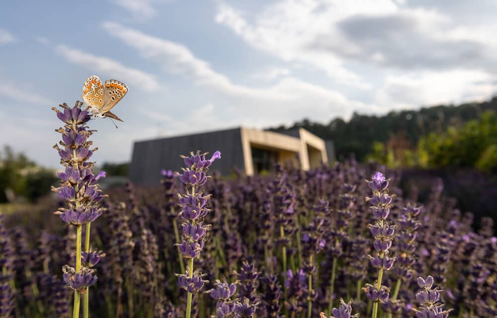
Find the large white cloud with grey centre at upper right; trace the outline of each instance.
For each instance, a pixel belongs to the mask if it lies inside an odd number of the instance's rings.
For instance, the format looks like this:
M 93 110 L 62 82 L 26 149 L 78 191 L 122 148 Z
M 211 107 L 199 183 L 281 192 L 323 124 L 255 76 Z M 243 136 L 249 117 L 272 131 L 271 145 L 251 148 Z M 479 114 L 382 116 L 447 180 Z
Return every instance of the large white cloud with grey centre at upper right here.
M 414 5 L 400 0 L 279 0 L 257 12 L 241 12 L 221 3 L 215 21 L 261 52 L 305 63 L 339 83 L 361 88 L 373 84 L 362 66 L 378 73 L 391 68 L 497 70 L 492 28 Z

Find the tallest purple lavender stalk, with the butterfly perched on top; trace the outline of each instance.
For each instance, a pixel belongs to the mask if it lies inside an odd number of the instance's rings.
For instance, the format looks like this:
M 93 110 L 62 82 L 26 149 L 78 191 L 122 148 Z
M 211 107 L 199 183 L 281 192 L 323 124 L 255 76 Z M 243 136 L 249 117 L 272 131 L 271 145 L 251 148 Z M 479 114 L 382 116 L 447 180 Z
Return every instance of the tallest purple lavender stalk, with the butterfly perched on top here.
M 89 248 L 90 223 L 98 218 L 103 208 L 99 206 L 103 195 L 98 189 L 97 181 L 105 176 L 101 172 L 97 176 L 93 174 L 94 162 L 89 162 L 93 152 L 97 148 L 90 149 L 92 142 L 88 137 L 94 131 L 88 130 L 86 123 L 90 120 L 90 115 L 82 109 L 83 103 L 77 101 L 74 107 L 62 104 L 62 111 L 53 107 L 57 117 L 64 123 L 64 127 L 56 131 L 62 135 L 62 141 L 54 148 L 59 152 L 61 164 L 65 167 L 64 172 L 59 172 L 58 176 L 61 186 L 53 187 L 66 207 L 59 208 L 55 214 L 60 215 L 63 222 L 76 227 L 76 267 L 64 265 L 64 281 L 74 290 L 73 318 L 80 315 L 80 299 L 83 295 L 83 315 L 89 316 L 88 312 L 88 287 L 93 285 L 97 276 L 95 270 L 91 269 L 99 259 L 101 252 L 92 252 Z M 85 250 L 82 253 L 82 229 L 86 227 Z M 84 266 L 82 258 L 85 257 Z M 96 258 L 95 258 L 96 257 Z M 91 259 L 91 260 L 90 260 Z

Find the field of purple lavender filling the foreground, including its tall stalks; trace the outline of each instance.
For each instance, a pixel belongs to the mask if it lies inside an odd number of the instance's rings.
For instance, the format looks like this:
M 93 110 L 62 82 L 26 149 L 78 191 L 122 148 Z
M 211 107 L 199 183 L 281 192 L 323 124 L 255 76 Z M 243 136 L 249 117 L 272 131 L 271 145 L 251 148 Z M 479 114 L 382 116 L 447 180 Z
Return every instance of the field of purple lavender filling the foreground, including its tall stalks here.
M 227 179 L 194 152 L 104 194 L 89 113 L 54 110 L 60 201 L 0 215 L 1 318 L 497 315 L 493 221 L 474 232 L 438 183 L 421 204 L 374 164 Z

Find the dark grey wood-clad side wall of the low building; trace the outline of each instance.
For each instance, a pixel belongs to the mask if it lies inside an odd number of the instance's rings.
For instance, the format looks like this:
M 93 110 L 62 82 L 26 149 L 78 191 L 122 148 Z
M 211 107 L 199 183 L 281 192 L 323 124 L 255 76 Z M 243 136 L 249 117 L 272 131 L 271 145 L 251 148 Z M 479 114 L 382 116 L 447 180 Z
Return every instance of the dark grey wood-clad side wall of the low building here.
M 129 178 L 135 184 L 158 185 L 161 169 L 180 171 L 184 163 L 179 155 L 197 150 L 210 155 L 216 150 L 221 152 L 221 159 L 214 161 L 211 171 L 224 175 L 231 174 L 235 167 L 245 171 L 241 129 L 235 128 L 135 142 Z

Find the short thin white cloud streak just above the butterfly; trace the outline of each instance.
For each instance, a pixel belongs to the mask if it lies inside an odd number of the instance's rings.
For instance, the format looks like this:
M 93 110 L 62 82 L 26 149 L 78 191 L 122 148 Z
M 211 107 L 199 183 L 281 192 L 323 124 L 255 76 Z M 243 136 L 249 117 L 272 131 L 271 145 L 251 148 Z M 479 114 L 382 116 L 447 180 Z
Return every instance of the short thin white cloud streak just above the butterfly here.
M 154 91 L 160 87 L 159 82 L 153 75 L 128 68 L 115 60 L 95 56 L 65 45 L 58 45 L 56 51 L 71 63 L 82 65 L 92 72 L 105 73 L 125 82 L 129 86 L 136 85 L 146 91 Z

